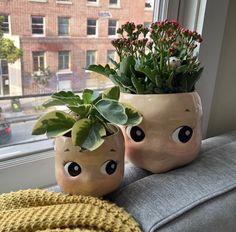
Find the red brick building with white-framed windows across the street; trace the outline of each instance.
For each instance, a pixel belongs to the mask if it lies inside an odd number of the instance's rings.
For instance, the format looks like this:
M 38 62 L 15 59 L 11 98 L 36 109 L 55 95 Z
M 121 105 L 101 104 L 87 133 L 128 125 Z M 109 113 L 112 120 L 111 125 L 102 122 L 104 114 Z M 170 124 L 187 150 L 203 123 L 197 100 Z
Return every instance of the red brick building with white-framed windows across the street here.
M 107 63 L 108 57 L 114 57 L 110 42 L 119 25 L 126 21 L 151 23 L 152 8 L 150 0 L 0 1 L 5 34 L 18 41 L 23 50 L 20 64 L 9 65 L 9 94 L 99 85 L 96 81 L 103 80 L 84 68 L 91 63 Z M 32 73 L 47 67 L 51 78 L 40 86 Z

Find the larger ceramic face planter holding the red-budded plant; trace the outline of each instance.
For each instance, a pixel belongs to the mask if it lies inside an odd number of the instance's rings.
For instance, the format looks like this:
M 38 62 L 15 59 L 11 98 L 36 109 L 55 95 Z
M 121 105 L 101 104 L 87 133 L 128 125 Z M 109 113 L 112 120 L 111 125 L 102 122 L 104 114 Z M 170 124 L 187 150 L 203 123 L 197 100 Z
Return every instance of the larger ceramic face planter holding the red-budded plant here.
M 142 115 L 139 126 L 123 128 L 126 156 L 136 166 L 161 173 L 191 162 L 201 146 L 202 106 L 196 92 L 122 94 Z

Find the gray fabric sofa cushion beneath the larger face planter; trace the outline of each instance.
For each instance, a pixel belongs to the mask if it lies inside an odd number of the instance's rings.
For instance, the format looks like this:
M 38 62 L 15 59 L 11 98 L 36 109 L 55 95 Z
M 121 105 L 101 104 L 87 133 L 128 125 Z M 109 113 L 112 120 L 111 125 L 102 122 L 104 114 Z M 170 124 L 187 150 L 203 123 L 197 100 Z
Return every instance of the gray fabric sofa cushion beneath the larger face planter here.
M 143 231 L 236 231 L 236 131 L 203 141 L 190 165 L 151 174 L 129 164 L 107 199 Z

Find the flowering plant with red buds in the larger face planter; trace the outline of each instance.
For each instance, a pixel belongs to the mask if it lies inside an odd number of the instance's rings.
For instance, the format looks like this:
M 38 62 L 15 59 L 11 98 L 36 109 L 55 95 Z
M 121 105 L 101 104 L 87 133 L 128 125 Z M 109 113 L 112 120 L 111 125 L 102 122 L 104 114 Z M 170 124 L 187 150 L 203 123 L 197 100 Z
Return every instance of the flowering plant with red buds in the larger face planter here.
M 195 48 L 201 36 L 175 21 L 156 22 L 151 27 L 127 22 L 112 41 L 119 62 L 90 65 L 87 69 L 105 75 L 122 92 L 162 94 L 192 92 L 203 71 Z

